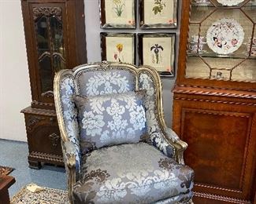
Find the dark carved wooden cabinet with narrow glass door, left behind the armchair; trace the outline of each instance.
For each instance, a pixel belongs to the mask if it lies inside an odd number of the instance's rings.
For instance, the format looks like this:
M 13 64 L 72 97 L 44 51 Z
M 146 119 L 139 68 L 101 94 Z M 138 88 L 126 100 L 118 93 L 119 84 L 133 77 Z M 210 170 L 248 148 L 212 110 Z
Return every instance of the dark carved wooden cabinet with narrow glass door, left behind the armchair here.
M 28 163 L 63 165 L 54 107 L 54 74 L 87 63 L 83 0 L 21 0 L 32 104 L 21 112 Z

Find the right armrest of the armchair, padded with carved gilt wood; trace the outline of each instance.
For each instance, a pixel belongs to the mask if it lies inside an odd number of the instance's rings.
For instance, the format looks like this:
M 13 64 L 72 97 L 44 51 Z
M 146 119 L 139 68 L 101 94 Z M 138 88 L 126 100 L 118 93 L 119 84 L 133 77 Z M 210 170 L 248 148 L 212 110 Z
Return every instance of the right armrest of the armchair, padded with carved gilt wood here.
M 176 162 L 184 164 L 184 151 L 187 149 L 187 143 L 183 140 L 180 140 L 180 137 L 173 131 L 173 129 L 165 128 L 164 129 L 165 139 L 170 146 L 175 148 L 175 159 Z

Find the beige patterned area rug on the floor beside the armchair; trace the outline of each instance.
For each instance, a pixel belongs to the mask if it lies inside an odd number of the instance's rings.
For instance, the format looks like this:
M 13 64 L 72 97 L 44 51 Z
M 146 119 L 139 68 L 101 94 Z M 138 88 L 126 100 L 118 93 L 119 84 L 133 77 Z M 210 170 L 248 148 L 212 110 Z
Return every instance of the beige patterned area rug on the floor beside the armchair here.
M 31 184 L 28 184 L 31 185 Z M 68 202 L 68 191 L 62 191 L 54 188 L 43 188 L 43 191 L 32 192 L 27 186 L 13 196 L 11 204 L 62 204 Z

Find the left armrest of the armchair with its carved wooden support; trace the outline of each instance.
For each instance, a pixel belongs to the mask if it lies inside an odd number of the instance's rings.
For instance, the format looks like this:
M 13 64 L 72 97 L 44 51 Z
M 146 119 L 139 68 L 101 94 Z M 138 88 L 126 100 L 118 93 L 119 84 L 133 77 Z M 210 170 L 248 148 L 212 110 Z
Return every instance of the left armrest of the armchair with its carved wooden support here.
M 69 185 L 69 201 L 72 203 L 72 190 L 73 185 L 76 183 L 76 147 L 70 141 L 65 141 L 63 145 L 63 153 L 66 160 L 68 174 L 68 185 Z

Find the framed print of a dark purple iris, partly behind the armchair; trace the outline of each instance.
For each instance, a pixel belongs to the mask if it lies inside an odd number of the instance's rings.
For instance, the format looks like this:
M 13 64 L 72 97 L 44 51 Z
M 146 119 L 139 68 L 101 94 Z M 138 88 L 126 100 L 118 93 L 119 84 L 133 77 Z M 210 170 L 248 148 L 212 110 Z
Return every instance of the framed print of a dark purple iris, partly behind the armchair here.
M 156 68 L 161 76 L 174 77 L 176 34 L 139 34 L 139 64 Z

